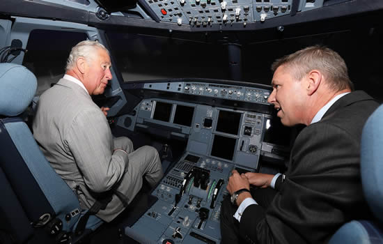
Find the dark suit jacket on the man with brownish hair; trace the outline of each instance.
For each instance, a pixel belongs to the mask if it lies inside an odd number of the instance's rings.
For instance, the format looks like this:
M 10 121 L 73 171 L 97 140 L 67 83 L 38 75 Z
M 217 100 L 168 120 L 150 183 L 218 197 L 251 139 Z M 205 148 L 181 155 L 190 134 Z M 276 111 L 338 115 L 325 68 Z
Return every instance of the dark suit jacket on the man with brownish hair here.
M 299 133 L 286 181 L 266 212 L 251 205 L 240 233 L 258 243 L 325 243 L 341 225 L 368 218 L 359 170 L 361 131 L 378 103 L 354 91 Z

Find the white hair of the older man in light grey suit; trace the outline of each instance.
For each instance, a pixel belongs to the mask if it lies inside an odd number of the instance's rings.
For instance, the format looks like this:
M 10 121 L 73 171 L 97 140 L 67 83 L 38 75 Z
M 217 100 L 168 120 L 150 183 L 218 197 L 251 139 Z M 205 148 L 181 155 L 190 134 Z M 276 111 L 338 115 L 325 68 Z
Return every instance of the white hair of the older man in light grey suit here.
M 109 55 L 108 49 L 95 40 L 83 40 L 80 43 L 77 43 L 77 45 L 72 47 L 72 50 L 70 51 L 68 60 L 66 61 L 65 70 L 71 70 L 75 66 L 79 57 L 83 57 L 86 61 L 90 61 L 94 58 L 98 48 L 104 49 Z

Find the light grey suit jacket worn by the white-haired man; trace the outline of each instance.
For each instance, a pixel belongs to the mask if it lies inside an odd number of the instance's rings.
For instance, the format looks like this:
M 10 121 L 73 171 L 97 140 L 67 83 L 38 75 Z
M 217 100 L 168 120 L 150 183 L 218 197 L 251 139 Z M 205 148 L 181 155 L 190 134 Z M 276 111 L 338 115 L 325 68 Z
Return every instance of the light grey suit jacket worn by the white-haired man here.
M 126 145 L 118 145 L 91 96 L 66 79 L 40 96 L 33 136 L 52 167 L 77 193 L 83 208 L 95 202 L 91 192 L 110 190 L 127 171 L 127 154 L 114 151 L 126 150 Z M 103 211 L 97 215 L 108 220 Z

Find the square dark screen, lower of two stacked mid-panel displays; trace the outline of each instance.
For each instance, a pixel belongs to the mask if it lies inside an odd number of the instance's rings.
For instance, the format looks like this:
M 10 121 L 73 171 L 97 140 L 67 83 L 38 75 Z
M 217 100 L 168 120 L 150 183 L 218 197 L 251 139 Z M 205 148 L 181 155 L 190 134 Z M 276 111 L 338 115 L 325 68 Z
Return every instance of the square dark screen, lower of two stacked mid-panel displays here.
M 214 135 L 212 153 L 210 154 L 217 158 L 233 160 L 236 142 L 237 139 L 232 137 Z

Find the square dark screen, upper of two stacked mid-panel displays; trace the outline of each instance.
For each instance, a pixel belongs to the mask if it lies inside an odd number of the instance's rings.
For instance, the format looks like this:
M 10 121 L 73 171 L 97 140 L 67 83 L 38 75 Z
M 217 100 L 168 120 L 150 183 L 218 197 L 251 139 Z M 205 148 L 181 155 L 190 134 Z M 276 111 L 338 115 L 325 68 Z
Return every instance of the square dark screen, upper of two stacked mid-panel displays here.
M 238 135 L 238 128 L 240 128 L 240 113 L 219 110 L 217 131 L 228 133 L 231 135 Z

